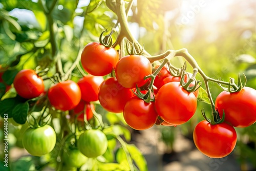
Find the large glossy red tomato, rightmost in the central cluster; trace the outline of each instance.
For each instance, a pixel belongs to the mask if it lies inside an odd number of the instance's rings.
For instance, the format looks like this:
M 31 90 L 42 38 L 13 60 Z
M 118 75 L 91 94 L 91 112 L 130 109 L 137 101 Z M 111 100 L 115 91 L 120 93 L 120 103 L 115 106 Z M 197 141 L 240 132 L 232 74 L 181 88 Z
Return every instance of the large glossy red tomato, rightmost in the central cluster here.
M 173 125 L 187 122 L 197 109 L 196 96 L 183 89 L 179 82 L 164 84 L 158 91 L 155 102 L 158 115 Z

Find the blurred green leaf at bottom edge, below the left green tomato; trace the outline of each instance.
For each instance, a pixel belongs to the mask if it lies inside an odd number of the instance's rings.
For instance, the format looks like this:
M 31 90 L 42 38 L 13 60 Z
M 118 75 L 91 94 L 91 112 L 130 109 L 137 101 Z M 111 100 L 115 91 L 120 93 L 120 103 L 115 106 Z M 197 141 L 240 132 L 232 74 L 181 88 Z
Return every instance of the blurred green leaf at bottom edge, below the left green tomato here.
M 31 156 L 21 157 L 11 165 L 11 170 L 36 170 Z

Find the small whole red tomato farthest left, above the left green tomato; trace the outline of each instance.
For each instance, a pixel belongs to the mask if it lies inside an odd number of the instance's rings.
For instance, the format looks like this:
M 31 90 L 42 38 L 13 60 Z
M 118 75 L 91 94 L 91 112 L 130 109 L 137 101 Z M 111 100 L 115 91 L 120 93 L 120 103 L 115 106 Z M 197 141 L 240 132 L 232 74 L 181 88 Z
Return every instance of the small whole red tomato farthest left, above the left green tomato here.
M 38 97 L 45 89 L 42 78 L 30 69 L 19 71 L 14 78 L 13 85 L 17 94 L 26 99 Z

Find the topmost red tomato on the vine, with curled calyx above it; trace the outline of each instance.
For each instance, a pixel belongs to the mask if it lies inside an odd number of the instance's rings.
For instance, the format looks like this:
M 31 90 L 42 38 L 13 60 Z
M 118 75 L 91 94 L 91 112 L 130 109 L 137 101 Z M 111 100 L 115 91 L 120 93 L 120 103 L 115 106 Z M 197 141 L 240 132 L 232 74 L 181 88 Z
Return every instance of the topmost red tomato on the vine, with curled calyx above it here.
M 119 54 L 114 48 L 106 48 L 99 42 L 90 42 L 83 48 L 81 54 L 82 67 L 95 76 L 111 73 L 118 59 Z

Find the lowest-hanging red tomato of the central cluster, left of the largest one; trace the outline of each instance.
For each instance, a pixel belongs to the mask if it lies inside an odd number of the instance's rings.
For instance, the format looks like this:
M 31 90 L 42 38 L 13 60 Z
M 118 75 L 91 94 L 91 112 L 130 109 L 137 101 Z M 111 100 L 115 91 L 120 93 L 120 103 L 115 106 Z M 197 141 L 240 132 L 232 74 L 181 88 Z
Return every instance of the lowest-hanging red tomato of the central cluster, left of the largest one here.
M 126 102 L 123 109 L 126 123 L 135 130 L 146 130 L 152 127 L 158 118 L 155 102 L 147 103 L 137 96 Z

